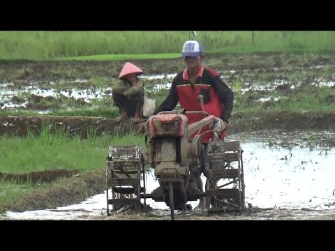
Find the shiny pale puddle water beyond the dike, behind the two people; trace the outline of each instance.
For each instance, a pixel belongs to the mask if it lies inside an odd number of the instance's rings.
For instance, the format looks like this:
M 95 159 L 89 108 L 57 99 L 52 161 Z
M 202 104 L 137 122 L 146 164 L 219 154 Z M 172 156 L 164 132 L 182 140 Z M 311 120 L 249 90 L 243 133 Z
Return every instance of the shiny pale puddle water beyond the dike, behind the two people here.
M 170 89 L 173 77 L 177 75 L 177 73 L 169 73 L 169 74 L 162 74 L 162 75 L 142 75 L 144 79 L 161 79 L 161 82 L 157 82 L 154 86 L 153 91 L 160 91 L 161 89 Z M 221 75 L 221 78 L 230 83 L 229 75 Z M 335 82 L 328 81 L 327 79 L 319 78 L 314 79 L 315 82 L 311 83 L 315 86 L 335 86 Z M 87 79 L 76 79 L 75 81 L 71 82 L 72 84 L 77 84 L 78 82 L 87 82 Z M 274 91 L 277 86 L 281 86 L 283 84 L 290 84 L 291 89 L 295 89 L 296 87 L 300 86 L 301 81 L 297 84 L 293 84 L 289 81 L 284 81 L 282 79 L 274 79 L 273 81 L 268 82 L 267 84 L 261 84 L 258 82 L 249 82 L 248 79 L 240 79 L 241 81 L 241 93 L 244 94 L 248 91 Z M 45 84 L 45 82 L 43 82 Z M 0 83 L 0 107 L 1 109 L 18 109 L 20 107 L 26 107 L 28 101 L 22 100 L 21 102 L 13 102 L 11 98 L 14 96 L 22 97 L 28 94 L 34 94 L 36 96 L 41 97 L 53 97 L 59 98 L 59 96 L 65 96 L 66 98 L 75 98 L 75 100 L 82 100 L 84 102 L 91 102 L 92 100 L 100 100 L 102 98 L 111 98 L 112 93 L 111 87 L 105 86 L 100 88 L 93 88 L 89 87 L 86 89 L 76 89 L 76 88 L 64 88 L 62 90 L 57 90 L 57 84 L 54 82 L 50 82 L 52 87 L 48 87 L 45 89 L 43 83 L 39 82 L 29 82 L 26 84 L 22 84 L 20 89 L 14 89 L 13 83 Z M 61 82 L 60 82 L 61 83 Z M 69 85 L 71 84 L 69 83 Z M 270 98 L 262 98 L 258 101 L 265 102 Z M 274 100 L 277 101 L 279 97 L 275 97 Z

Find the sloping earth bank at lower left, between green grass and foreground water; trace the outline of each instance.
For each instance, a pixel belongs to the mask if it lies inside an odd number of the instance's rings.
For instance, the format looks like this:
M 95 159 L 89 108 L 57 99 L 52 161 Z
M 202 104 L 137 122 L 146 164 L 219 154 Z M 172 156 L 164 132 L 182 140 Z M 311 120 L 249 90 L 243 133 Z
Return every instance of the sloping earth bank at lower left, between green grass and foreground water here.
M 45 170 L 43 172 L 33 172 L 30 174 L 2 174 L 5 178 L 12 181 L 27 182 L 27 178 L 52 183 L 61 181 L 59 185 L 53 185 L 48 190 L 40 190 L 22 199 L 13 201 L 10 204 L 0 205 L 1 211 L 23 212 L 45 208 L 57 208 L 58 206 L 68 206 L 70 204 L 80 203 L 87 197 L 96 195 L 105 190 L 105 170 L 98 170 L 91 174 L 79 174 L 79 172 L 69 171 L 67 169 L 56 169 L 53 171 Z M 23 178 L 23 179 L 22 179 Z

